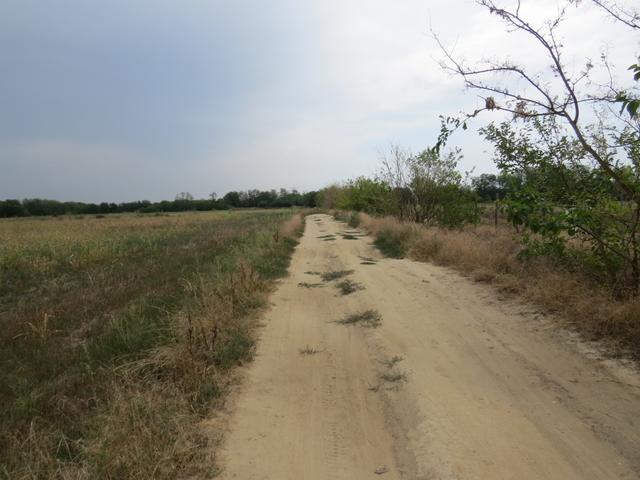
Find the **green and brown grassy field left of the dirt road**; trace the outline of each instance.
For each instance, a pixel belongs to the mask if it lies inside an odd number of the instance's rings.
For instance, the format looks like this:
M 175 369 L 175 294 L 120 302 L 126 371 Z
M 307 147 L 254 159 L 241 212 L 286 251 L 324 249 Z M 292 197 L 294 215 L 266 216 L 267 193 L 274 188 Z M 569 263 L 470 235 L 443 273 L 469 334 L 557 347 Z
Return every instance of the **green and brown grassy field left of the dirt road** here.
M 215 471 L 198 421 L 251 359 L 292 211 L 0 221 L 0 477 Z

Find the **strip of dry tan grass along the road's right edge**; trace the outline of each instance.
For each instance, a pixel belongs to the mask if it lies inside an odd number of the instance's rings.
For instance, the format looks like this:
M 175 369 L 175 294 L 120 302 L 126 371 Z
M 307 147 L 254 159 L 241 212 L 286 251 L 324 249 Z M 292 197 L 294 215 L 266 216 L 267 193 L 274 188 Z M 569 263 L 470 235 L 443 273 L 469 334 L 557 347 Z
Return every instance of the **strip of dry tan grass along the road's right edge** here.
M 556 314 L 587 339 L 606 339 L 618 352 L 640 356 L 640 300 L 616 300 L 587 275 L 548 259 L 521 259 L 519 234 L 509 225 L 444 230 L 366 214 L 360 225 L 389 256 L 454 268 Z

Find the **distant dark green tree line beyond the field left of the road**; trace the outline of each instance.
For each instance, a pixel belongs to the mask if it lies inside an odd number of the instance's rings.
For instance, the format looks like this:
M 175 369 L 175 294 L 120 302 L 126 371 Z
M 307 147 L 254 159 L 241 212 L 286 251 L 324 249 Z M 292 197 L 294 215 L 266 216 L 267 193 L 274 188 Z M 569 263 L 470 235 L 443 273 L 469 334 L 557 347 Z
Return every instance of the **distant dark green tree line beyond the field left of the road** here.
M 228 210 L 231 208 L 287 208 L 314 207 L 316 192 L 297 190 L 247 190 L 228 192 L 221 198 L 211 194 L 206 199 L 195 199 L 181 192 L 174 200 L 150 202 L 139 200 L 122 203 L 60 202 L 42 198 L 0 200 L 0 218 L 48 215 L 104 215 L 109 213 L 156 213 Z

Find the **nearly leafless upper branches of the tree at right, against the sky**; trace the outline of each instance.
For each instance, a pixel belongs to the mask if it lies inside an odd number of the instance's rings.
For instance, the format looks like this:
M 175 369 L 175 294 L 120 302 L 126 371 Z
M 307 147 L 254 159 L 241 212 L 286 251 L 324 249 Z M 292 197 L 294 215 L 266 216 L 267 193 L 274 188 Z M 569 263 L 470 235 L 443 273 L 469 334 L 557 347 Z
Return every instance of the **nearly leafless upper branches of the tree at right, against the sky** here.
M 640 186 L 630 181 L 624 174 L 624 169 L 613 161 L 616 149 L 608 148 L 603 151 L 599 139 L 590 134 L 589 125 L 584 124 L 581 116 L 584 107 L 618 101 L 620 90 L 616 89 L 613 83 L 603 88 L 597 82 L 591 81 L 590 74 L 594 65 L 589 59 L 586 59 L 584 69 L 577 74 L 571 74 L 564 63 L 563 45 L 558 40 L 558 28 L 566 18 L 567 7 L 576 1 L 567 1 L 560 13 L 542 28 L 533 26 L 520 15 L 519 1 L 511 9 L 498 6 L 493 0 L 476 0 L 476 3 L 487 9 L 490 14 L 498 16 L 510 31 L 528 35 L 544 52 L 549 63 L 546 72 L 531 71 L 526 65 L 510 59 L 499 62 L 484 61 L 475 66 L 468 66 L 464 61 L 456 59 L 436 36 L 446 58 L 443 67 L 462 77 L 468 88 L 489 95 L 485 98 L 484 107 L 476 109 L 467 115 L 467 118 L 493 110 L 509 112 L 514 119 L 556 117 L 570 129 L 587 155 L 626 192 L 627 196 L 639 201 Z M 595 3 L 605 5 L 602 1 Z M 519 81 L 525 87 L 518 91 L 510 90 L 499 81 L 499 78 L 504 77 L 513 82 Z M 465 122 L 462 124 L 466 125 Z M 629 126 L 638 133 L 637 124 Z

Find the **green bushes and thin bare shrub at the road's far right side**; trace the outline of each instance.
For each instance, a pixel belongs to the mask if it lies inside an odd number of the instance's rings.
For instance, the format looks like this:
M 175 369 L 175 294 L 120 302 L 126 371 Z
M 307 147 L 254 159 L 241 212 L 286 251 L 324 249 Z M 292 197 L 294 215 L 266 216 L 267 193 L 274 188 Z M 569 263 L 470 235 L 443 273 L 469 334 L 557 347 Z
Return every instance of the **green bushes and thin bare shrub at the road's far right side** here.
M 463 176 L 459 150 L 441 154 L 433 148 L 413 154 L 391 146 L 372 177 L 361 176 L 318 192 L 325 209 L 394 215 L 400 220 L 459 228 L 479 220 L 482 204 L 505 199 L 522 183 L 515 175 Z

